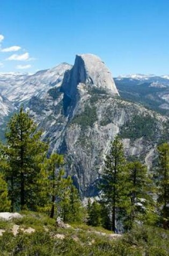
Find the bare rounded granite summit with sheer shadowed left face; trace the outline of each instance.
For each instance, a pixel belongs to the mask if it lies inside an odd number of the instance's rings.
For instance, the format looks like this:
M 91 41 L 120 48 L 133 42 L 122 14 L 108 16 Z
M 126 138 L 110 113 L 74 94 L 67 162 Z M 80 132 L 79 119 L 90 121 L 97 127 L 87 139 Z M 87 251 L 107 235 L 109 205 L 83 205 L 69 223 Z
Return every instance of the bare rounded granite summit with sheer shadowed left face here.
M 108 89 L 110 93 L 119 95 L 112 74 L 101 59 L 94 54 L 77 55 L 75 65 L 65 74 L 62 88 L 72 99 L 80 84 Z

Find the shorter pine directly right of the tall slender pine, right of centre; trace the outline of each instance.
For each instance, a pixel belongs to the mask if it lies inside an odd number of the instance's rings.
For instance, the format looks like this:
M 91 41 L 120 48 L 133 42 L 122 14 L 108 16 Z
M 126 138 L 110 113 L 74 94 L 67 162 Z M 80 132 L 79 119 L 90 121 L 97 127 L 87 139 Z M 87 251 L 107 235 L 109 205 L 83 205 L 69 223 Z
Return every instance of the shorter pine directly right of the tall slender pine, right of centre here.
M 153 200 L 149 193 L 152 191 L 152 182 L 148 172 L 142 163 L 138 161 L 128 163 L 129 172 L 129 198 L 128 207 L 128 228 L 131 228 L 135 220 L 143 219 L 153 206 Z

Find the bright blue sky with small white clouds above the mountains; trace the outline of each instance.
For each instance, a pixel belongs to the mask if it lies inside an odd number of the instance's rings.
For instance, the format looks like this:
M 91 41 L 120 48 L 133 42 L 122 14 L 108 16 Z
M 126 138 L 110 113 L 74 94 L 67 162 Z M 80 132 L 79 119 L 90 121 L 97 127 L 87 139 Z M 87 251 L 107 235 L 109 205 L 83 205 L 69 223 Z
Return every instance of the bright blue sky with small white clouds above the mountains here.
M 94 53 L 113 76 L 169 74 L 168 13 L 168 0 L 1 0 L 0 72 Z

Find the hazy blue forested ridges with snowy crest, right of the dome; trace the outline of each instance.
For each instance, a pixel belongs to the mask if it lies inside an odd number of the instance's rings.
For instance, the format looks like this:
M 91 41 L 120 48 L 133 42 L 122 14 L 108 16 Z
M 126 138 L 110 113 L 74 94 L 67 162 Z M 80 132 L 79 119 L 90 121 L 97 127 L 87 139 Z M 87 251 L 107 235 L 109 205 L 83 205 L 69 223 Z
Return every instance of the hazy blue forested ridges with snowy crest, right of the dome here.
M 115 78 L 115 84 L 123 99 L 169 115 L 169 75 L 126 75 Z

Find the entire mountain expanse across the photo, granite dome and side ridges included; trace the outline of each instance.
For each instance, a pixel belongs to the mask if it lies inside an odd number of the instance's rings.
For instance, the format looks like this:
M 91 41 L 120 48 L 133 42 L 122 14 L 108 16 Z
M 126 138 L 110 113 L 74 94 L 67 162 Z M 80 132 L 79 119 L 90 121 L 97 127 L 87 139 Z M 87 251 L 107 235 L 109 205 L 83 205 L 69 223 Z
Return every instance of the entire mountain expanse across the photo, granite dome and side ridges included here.
M 64 154 L 65 169 L 82 197 L 97 195 L 104 158 L 116 134 L 122 137 L 126 156 L 139 158 L 149 170 L 157 144 L 169 140 L 168 76 L 113 79 L 93 54 L 77 55 L 73 66 L 62 63 L 32 75 L 1 73 L 2 139 L 20 105 L 43 129 L 49 152 Z

